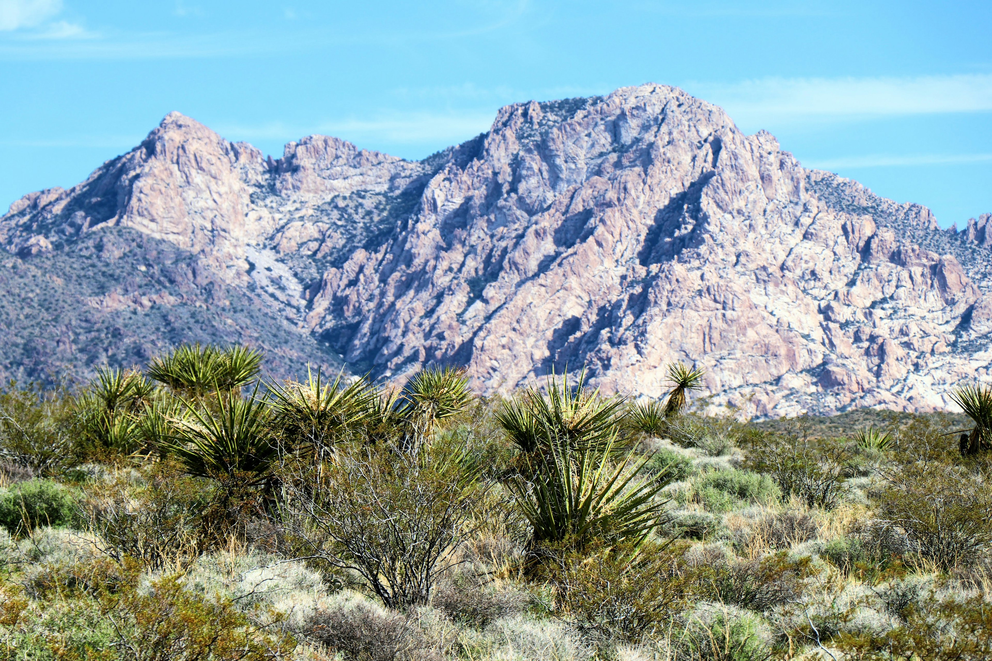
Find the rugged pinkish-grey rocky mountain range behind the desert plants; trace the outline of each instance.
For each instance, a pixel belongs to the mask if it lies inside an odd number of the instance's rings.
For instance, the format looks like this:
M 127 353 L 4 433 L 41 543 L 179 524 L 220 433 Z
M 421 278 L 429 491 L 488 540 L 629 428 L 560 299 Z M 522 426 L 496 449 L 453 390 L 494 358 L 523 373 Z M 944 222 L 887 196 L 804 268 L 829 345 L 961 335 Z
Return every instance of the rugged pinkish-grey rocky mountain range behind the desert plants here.
M 988 376 L 990 219 L 941 230 L 665 85 L 510 105 L 416 163 L 323 136 L 266 159 L 171 113 L 0 218 L 0 370 L 244 339 L 278 374 L 585 365 L 660 396 L 682 360 L 753 414 L 929 410 Z

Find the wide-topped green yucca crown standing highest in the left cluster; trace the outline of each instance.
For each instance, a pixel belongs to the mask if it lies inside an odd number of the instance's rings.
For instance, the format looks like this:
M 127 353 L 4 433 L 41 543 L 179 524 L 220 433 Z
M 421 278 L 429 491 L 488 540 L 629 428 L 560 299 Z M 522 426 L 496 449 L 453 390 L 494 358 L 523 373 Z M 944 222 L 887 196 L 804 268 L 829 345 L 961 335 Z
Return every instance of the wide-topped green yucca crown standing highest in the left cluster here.
M 221 349 L 197 342 L 152 359 L 148 376 L 186 396 L 201 397 L 247 386 L 258 376 L 261 363 L 262 353 L 247 347 Z

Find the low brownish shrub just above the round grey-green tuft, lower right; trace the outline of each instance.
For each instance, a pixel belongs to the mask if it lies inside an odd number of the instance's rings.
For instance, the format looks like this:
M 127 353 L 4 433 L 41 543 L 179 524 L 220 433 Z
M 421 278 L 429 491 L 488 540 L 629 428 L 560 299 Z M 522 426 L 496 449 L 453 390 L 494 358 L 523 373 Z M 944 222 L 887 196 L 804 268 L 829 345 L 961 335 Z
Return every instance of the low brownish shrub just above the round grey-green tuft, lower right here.
M 766 611 L 796 601 L 814 573 L 808 556 L 779 552 L 761 560 L 712 562 L 699 568 L 695 580 L 709 601 Z

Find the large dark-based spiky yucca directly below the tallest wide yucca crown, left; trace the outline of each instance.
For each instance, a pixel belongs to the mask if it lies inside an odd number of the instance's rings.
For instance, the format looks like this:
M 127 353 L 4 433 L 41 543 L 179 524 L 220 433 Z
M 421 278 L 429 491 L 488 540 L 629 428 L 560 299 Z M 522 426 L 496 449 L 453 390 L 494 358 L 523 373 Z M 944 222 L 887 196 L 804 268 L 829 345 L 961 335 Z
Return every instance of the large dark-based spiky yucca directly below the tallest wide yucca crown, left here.
M 204 478 L 264 478 L 276 457 L 266 402 L 216 392 L 216 412 L 183 401 L 185 417 L 170 419 L 169 430 L 155 442 L 165 455 L 179 460 L 189 475 Z

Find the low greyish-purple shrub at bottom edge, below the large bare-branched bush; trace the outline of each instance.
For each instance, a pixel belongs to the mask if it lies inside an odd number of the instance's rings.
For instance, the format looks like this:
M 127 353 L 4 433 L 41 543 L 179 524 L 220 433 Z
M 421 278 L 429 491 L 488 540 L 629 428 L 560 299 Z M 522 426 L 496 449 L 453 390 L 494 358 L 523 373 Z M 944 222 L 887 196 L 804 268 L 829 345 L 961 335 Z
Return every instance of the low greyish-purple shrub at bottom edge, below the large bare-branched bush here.
M 416 621 L 363 601 L 315 610 L 302 630 L 310 640 L 356 661 L 414 659 L 429 646 Z

